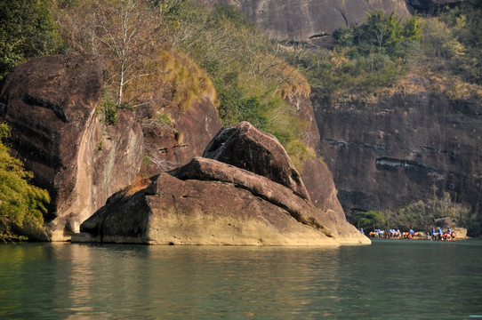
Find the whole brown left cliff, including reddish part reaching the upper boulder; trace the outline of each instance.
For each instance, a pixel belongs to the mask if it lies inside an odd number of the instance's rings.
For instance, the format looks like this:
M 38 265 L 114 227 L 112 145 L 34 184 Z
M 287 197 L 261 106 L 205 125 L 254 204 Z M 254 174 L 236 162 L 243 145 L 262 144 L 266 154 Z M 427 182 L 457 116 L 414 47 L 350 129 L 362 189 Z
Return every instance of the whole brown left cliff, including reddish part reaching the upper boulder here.
M 102 61 L 95 56 L 31 60 L 5 79 L 0 119 L 12 127 L 12 151 L 52 197 L 47 234 L 30 237 L 68 240 L 139 173 L 187 164 L 221 128 L 209 99 L 184 112 L 170 110 L 171 126 L 127 109 L 118 109 L 116 124 L 105 125 L 97 116 L 101 92 Z

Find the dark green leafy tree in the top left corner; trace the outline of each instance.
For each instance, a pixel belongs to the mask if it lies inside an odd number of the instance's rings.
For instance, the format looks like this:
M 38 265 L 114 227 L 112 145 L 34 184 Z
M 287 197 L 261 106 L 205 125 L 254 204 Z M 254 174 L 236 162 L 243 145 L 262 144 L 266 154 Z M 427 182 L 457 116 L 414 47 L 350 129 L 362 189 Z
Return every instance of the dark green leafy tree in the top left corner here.
M 0 2 L 0 80 L 30 58 L 61 51 L 50 0 Z

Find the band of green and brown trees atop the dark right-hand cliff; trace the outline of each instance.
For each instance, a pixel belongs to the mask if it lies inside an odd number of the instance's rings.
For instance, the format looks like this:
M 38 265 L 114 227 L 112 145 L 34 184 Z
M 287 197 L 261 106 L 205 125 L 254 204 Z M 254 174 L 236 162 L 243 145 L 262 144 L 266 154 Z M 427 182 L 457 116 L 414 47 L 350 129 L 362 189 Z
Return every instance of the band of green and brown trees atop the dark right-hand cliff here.
M 480 5 L 470 2 L 438 17 L 405 22 L 393 12 L 375 11 L 359 26 L 340 28 L 332 50 L 295 50 L 291 61 L 328 100 L 414 90 L 406 87 L 413 76 L 428 80 L 423 90 L 480 99 L 481 17 Z

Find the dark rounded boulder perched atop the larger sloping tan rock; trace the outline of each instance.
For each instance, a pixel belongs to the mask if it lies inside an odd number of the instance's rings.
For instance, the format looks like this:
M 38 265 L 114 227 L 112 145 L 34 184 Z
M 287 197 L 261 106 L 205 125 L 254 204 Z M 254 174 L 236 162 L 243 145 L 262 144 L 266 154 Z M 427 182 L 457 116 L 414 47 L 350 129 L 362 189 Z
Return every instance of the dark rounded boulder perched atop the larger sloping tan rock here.
M 285 148 L 273 135 L 259 131 L 253 124 L 241 122 L 222 128 L 209 142 L 203 156 L 267 177 L 309 199 L 301 175 Z

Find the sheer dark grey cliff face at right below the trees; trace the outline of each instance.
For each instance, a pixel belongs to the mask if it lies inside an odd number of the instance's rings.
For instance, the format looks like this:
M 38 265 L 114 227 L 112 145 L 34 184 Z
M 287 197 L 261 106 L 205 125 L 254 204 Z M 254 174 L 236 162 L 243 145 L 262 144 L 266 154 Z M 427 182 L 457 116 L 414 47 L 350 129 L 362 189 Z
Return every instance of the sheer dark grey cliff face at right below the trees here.
M 396 94 L 373 104 L 318 101 L 316 115 L 347 214 L 398 208 L 434 192 L 480 210 L 480 101 Z

